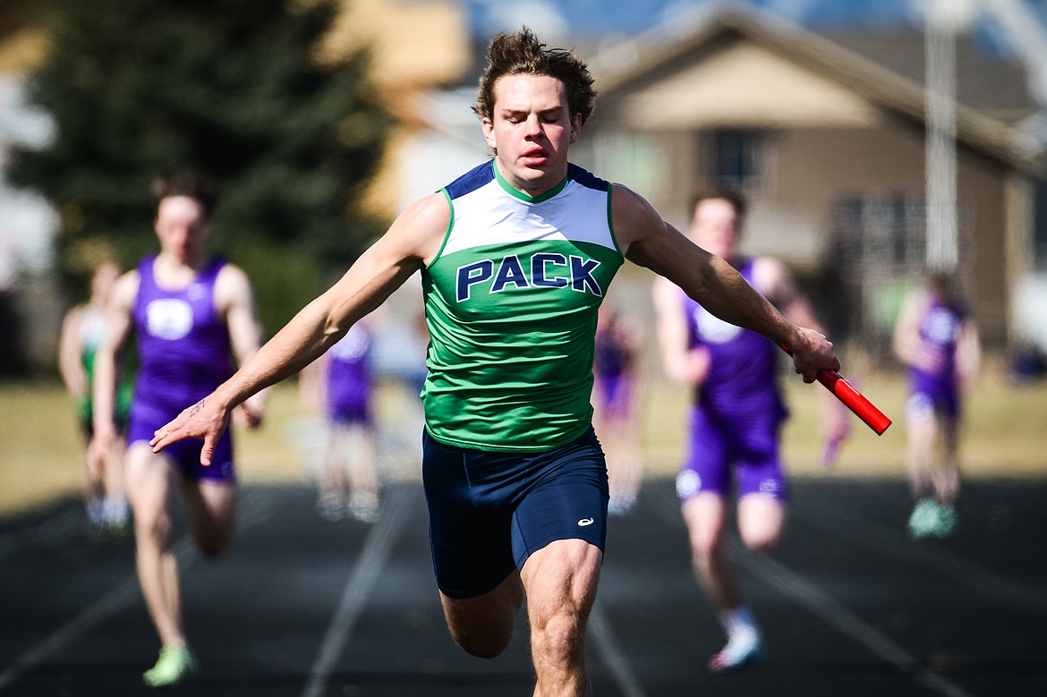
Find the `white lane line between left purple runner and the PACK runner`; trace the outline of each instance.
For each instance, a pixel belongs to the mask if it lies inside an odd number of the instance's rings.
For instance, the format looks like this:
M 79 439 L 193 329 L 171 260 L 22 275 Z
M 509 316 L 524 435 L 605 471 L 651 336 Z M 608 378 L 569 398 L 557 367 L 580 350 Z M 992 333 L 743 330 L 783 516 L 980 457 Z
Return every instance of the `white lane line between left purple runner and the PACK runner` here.
M 397 538 L 403 531 L 404 523 L 414 508 L 414 487 L 394 489 L 393 495 L 383 507 L 381 517 L 367 534 L 363 552 L 346 583 L 338 610 L 328 626 L 319 654 L 309 671 L 309 681 L 302 693 L 303 697 L 319 697 L 327 690 L 331 671 L 360 616 L 375 582 L 381 575 L 382 567 L 385 566 Z

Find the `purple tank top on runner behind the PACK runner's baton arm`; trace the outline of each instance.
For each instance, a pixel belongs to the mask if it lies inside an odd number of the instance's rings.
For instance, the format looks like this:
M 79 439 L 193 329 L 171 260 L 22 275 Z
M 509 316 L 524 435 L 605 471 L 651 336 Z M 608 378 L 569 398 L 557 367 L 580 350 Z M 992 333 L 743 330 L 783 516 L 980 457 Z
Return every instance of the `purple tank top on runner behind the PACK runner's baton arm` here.
M 752 284 L 753 260 L 745 260 L 738 272 Z M 755 332 L 719 319 L 686 294 L 681 295 L 687 313 L 689 345 L 705 346 L 710 356 L 709 374 L 698 389 L 698 404 L 723 414 L 775 409 L 784 417 L 775 344 Z

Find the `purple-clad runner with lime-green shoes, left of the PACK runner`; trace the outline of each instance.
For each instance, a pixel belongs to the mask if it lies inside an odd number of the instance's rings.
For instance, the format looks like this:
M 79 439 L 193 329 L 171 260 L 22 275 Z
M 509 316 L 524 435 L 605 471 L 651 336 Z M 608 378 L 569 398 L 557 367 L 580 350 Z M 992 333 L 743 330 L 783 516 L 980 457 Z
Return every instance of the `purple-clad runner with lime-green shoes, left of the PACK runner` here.
M 232 536 L 236 471 L 232 439 L 218 443 L 214 464 L 200 464 L 203 443 L 186 441 L 162 453 L 149 445 L 153 432 L 186 402 L 199 401 L 259 348 L 261 327 L 247 275 L 204 251 L 216 204 L 214 192 L 192 177 L 155 185 L 154 228 L 160 252 L 116 282 L 106 336 L 95 359 L 94 439 L 107 452 L 113 426 L 118 357 L 132 339 L 138 376 L 128 426 L 128 496 L 134 511 L 138 580 L 160 636 L 156 665 L 142 676 L 159 688 L 197 670 L 182 626 L 178 560 L 172 548 L 171 505 L 181 492 L 197 547 L 205 557 L 225 552 Z M 241 404 L 235 417 L 253 428 L 264 397 Z

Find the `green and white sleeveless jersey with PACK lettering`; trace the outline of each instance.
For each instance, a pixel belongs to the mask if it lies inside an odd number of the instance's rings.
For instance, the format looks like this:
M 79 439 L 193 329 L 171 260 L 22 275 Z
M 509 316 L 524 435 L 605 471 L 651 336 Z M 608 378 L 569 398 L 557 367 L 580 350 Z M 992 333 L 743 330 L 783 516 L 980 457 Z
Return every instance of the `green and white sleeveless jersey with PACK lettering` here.
M 429 434 L 540 452 L 589 427 L 597 311 L 622 266 L 610 185 L 574 164 L 532 198 L 486 162 L 442 189 L 443 247 L 422 273 Z

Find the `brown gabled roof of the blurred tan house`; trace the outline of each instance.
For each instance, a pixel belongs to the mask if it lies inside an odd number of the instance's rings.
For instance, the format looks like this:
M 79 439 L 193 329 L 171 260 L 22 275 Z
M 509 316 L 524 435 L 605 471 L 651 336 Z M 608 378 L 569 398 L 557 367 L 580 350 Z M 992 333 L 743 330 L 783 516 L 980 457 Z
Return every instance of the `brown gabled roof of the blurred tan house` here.
M 770 65 L 765 59 L 771 57 L 784 70 L 806 75 L 808 83 L 820 82 L 838 95 L 848 92 L 852 103 L 847 117 L 852 120 L 866 116 L 855 104 L 861 103 L 876 113 L 922 127 L 920 32 L 866 30 L 829 37 L 766 13 L 737 7 L 716 8 L 689 23 L 677 22 L 669 32 L 665 28 L 647 32 L 617 54 L 603 54 L 593 62 L 600 92 L 598 116 L 628 120 L 630 100 L 640 93 L 653 94 L 660 84 L 672 85 L 674 78 L 675 94 L 685 98 L 678 89 L 687 84 L 685 73 L 694 73 L 701 64 L 714 62 L 726 51 L 742 50 L 740 47 L 755 49 L 749 50 L 751 55 L 763 55 L 763 67 Z M 750 63 L 750 69 L 755 70 L 757 62 L 751 59 Z M 1012 166 L 1034 171 L 1038 162 L 1012 145 L 1016 136 L 1011 127 L 1037 111 L 1022 74 L 1012 64 L 994 66 L 980 59 L 971 41 L 958 42 L 957 138 Z M 667 104 L 660 103 L 660 107 Z M 781 112 L 789 105 L 784 100 L 770 104 L 770 108 L 751 110 L 747 123 L 756 126 L 763 119 L 768 128 L 781 126 Z

